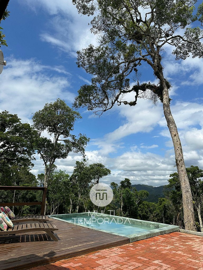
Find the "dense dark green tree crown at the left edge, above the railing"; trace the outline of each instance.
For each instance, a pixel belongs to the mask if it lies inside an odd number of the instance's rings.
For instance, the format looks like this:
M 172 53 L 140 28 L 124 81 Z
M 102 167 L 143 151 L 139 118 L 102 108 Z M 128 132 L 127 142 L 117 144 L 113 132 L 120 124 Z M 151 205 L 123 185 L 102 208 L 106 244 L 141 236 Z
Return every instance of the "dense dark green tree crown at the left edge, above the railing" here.
M 33 166 L 35 131 L 27 123 L 21 123 L 17 114 L 0 113 L 0 181 L 12 182 L 16 170 Z M 7 183 L 7 185 L 8 185 Z

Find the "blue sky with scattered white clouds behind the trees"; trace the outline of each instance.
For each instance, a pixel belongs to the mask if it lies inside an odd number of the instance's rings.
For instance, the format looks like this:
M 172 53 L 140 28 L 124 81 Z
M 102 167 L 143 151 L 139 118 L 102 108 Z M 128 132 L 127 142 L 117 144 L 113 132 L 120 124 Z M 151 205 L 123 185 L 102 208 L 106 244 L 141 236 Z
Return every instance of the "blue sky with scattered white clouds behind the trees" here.
M 45 103 L 61 98 L 71 106 L 80 86 L 90 82 L 91 76 L 77 68 L 76 51 L 96 45 L 96 37 L 89 31 L 91 18 L 78 15 L 70 0 L 10 0 L 8 10 L 9 18 L 1 23 L 8 47 L 1 48 L 7 65 L 0 75 L 0 110 L 31 124 L 32 113 Z M 173 85 L 171 110 L 185 163 L 203 169 L 203 60 L 175 61 L 172 48 L 165 49 L 164 72 Z M 155 82 L 150 68 L 143 66 L 141 72 L 142 82 Z M 154 107 L 140 99 L 135 107 L 115 106 L 100 118 L 86 109 L 80 113 L 83 119 L 74 134 L 90 137 L 89 164 L 100 162 L 112 170 L 103 182 L 119 183 L 127 177 L 132 184 L 167 184 L 175 157 L 162 104 Z M 56 165 L 71 174 L 80 159 L 71 153 Z M 43 168 L 37 156 L 32 172 L 42 173 Z

